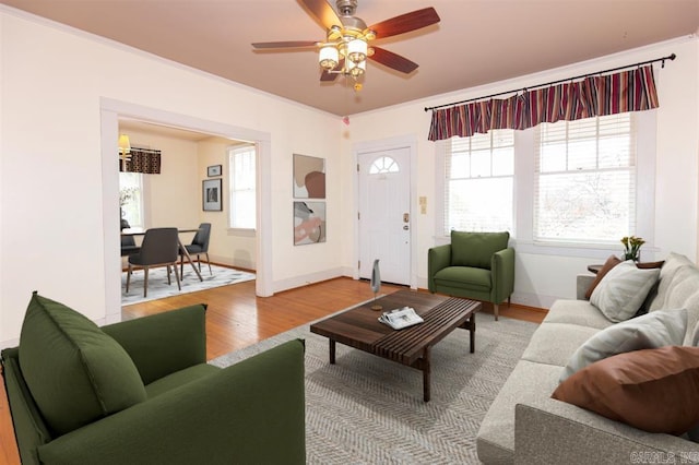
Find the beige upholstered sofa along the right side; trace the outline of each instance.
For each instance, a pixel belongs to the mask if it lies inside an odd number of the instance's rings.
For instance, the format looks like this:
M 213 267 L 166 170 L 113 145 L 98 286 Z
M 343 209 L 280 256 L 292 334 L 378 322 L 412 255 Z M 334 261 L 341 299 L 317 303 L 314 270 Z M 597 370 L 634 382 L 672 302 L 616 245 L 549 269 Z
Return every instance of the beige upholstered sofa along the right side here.
M 552 306 L 493 402 L 476 440 L 484 463 L 699 463 L 699 443 L 687 434 L 645 432 L 550 397 L 578 347 L 616 324 L 584 300 L 593 278 L 578 276 L 578 300 Z M 699 320 L 699 269 L 671 253 L 645 306 L 649 312 L 687 309 L 683 344 L 690 345 Z

